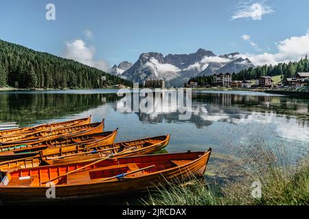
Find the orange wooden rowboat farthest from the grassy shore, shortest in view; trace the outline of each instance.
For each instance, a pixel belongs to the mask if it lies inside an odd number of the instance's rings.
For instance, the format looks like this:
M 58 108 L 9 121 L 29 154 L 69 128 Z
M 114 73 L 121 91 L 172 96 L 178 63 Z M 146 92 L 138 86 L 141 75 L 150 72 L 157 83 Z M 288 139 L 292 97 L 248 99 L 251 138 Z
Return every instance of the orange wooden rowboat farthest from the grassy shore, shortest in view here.
M 21 136 L 26 133 L 44 131 L 46 129 L 56 129 L 60 127 L 70 127 L 70 126 L 76 126 L 76 125 L 87 125 L 90 122 L 91 122 L 91 116 L 87 118 L 79 118 L 76 120 L 69 120 L 69 121 L 64 121 L 60 123 L 44 123 L 44 124 L 36 125 L 33 127 L 23 127 L 23 128 L 18 128 L 18 129 L 3 130 L 3 131 L 0 131 L 0 137 Z

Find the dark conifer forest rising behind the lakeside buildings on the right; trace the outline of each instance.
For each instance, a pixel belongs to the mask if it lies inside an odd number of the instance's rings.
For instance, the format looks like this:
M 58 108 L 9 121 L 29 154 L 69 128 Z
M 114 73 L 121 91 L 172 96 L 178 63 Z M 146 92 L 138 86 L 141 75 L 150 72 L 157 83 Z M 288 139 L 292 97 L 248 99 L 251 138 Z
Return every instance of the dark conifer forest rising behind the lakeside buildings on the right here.
M 233 73 L 232 79 L 237 81 L 256 79 L 260 76 L 275 76 L 282 75 L 282 81 L 287 77 L 295 77 L 296 73 L 309 72 L 309 60 L 306 58 L 301 59 L 299 62 L 279 63 L 275 66 L 264 65 L 256 68 L 248 68 L 241 70 L 240 73 Z M 212 75 L 205 77 L 194 77 L 190 81 L 198 82 L 198 85 L 212 83 Z

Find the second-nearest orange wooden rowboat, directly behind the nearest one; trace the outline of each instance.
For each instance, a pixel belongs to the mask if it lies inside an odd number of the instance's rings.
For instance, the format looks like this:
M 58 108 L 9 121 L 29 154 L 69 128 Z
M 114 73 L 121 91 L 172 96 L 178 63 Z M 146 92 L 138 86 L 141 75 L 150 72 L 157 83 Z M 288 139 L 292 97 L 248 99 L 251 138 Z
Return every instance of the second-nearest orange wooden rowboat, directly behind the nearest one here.
M 117 131 L 115 131 L 117 133 Z M 152 138 L 143 138 L 139 140 L 131 140 L 127 142 L 111 142 L 106 144 L 106 141 L 98 142 L 96 139 L 100 138 L 101 134 L 91 135 L 95 140 L 87 143 L 82 141 L 79 144 L 71 146 L 57 146 L 52 149 L 45 149 L 33 157 L 26 157 L 21 159 L 12 159 L 6 162 L 0 162 L 0 172 L 14 170 L 19 168 L 32 168 L 44 165 L 58 165 L 58 164 L 75 164 L 79 162 L 89 162 L 101 159 L 102 157 L 115 154 L 115 157 L 128 157 L 132 155 L 147 155 L 159 151 L 168 145 L 170 135 L 157 136 Z M 115 135 L 116 136 L 116 135 Z M 75 142 L 75 140 L 74 140 Z M 61 142 L 60 144 L 63 144 Z M 136 148 L 133 151 L 126 151 L 126 153 L 119 154 L 119 152 L 126 149 Z M 117 155 L 119 154 L 119 155 Z

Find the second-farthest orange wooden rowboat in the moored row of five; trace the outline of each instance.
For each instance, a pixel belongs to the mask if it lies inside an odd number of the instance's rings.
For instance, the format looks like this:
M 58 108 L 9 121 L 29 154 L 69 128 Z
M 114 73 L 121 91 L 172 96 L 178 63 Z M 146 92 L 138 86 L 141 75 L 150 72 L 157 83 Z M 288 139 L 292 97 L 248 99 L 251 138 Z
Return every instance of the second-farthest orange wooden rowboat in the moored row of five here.
M 62 127 L 58 129 L 37 131 L 33 133 L 27 133 L 22 136 L 6 136 L 0 137 L 0 148 L 1 146 L 12 146 L 19 144 L 27 144 L 28 142 L 38 142 L 41 140 L 50 140 L 65 136 L 77 136 L 83 134 L 91 134 L 102 132 L 104 129 L 104 120 L 101 123 L 91 123 L 88 125 L 78 125 L 71 127 Z M 1 152 L 1 149 L 0 149 Z

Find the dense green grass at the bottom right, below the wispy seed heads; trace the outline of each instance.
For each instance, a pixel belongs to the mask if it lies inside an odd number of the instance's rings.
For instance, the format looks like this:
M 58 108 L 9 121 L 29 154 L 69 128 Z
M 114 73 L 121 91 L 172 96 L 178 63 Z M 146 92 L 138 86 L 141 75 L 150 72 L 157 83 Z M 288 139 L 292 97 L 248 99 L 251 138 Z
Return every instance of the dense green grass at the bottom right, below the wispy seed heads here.
M 256 177 L 256 176 L 255 176 Z M 262 198 L 251 196 L 251 186 L 233 183 L 219 188 L 200 179 L 158 185 L 146 205 L 309 205 L 309 165 L 294 175 L 275 167 L 258 177 Z M 249 184 L 251 185 L 251 184 Z

